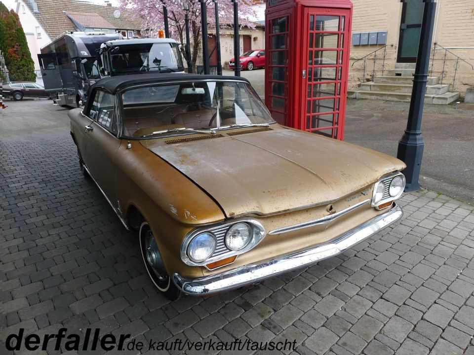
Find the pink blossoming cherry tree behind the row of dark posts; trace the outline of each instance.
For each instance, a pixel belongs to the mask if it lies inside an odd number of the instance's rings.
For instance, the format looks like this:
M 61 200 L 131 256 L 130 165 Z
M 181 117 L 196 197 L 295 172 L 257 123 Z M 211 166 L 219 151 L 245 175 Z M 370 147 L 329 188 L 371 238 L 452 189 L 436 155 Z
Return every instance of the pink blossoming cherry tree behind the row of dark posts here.
M 121 7 L 126 8 L 134 14 L 134 17 L 142 18 L 142 26 L 149 33 L 156 34 L 159 29 L 164 29 L 163 4 L 168 10 L 168 24 L 170 36 L 178 42 L 186 42 L 185 26 L 185 3 L 189 4 L 188 17 L 190 25 L 191 58 L 196 64 L 197 53 L 201 48 L 201 4 L 199 0 L 120 0 Z M 249 16 L 255 16 L 252 9 L 252 0 L 237 0 L 239 25 L 254 28 L 255 25 L 248 20 Z M 234 24 L 234 4 L 231 0 L 218 0 L 219 25 L 221 28 L 230 27 Z M 207 26 L 215 28 L 214 2 L 206 0 Z

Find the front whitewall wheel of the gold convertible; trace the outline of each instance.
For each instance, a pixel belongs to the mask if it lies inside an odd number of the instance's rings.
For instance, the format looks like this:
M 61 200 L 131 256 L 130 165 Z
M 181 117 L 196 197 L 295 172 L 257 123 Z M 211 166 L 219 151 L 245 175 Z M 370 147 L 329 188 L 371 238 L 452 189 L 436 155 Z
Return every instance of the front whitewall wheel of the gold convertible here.
M 153 235 L 148 222 L 140 225 L 140 250 L 142 252 L 143 262 L 147 269 L 148 276 L 152 279 L 153 284 L 158 290 L 171 301 L 178 299 L 181 292 L 171 281 L 163 259 L 158 250 L 157 241 Z

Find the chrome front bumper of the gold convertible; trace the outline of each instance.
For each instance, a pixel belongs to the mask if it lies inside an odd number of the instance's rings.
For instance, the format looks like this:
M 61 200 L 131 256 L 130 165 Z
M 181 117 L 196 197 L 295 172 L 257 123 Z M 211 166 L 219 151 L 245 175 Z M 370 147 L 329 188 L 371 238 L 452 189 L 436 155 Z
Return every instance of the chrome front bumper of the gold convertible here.
M 173 281 L 184 293 L 194 295 L 222 292 L 260 282 L 269 277 L 307 267 L 319 260 L 340 254 L 396 222 L 402 215 L 401 208 L 394 204 L 390 211 L 368 220 L 332 243 L 194 280 L 174 274 Z

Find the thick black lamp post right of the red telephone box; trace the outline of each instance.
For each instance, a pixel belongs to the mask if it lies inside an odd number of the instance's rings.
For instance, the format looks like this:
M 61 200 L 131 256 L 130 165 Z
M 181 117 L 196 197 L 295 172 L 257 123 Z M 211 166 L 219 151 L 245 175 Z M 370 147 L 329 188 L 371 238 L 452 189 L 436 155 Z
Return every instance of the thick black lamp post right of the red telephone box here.
M 404 0 L 402 0 L 403 2 Z M 403 160 L 406 169 L 403 172 L 406 178 L 405 191 L 416 191 L 420 189 L 421 161 L 425 143 L 421 135 L 421 119 L 423 117 L 423 106 L 425 103 L 426 84 L 428 82 L 428 67 L 430 64 L 431 42 L 433 39 L 433 26 L 435 24 L 436 2 L 435 0 L 423 0 L 425 9 L 423 12 L 423 23 L 421 25 L 420 45 L 416 60 L 415 74 L 413 79 L 413 91 L 411 93 L 410 110 L 405 134 L 398 142 L 397 158 Z

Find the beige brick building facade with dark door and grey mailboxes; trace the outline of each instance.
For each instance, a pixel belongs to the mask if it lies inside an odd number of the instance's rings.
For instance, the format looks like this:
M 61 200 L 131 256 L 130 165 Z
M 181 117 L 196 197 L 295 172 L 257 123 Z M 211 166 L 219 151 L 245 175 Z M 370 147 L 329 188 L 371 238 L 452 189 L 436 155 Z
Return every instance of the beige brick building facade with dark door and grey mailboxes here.
M 380 77 L 411 76 L 420 39 L 423 0 L 352 1 L 354 21 L 349 88 L 367 91 L 371 87 L 380 92 L 383 88 L 380 85 L 362 83 L 398 82 L 401 85 L 408 82 L 408 78 L 391 81 Z M 466 89 L 474 86 L 474 0 L 437 0 L 433 37 L 429 85 L 442 85 L 443 88 L 449 85 L 448 92 L 459 92 L 464 96 Z M 402 89 L 394 85 L 386 88 Z M 440 93 L 436 91 L 438 88 L 434 87 L 432 92 Z M 448 96 L 447 93 L 442 95 Z

